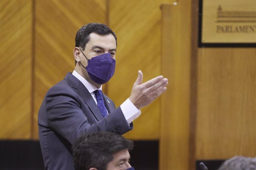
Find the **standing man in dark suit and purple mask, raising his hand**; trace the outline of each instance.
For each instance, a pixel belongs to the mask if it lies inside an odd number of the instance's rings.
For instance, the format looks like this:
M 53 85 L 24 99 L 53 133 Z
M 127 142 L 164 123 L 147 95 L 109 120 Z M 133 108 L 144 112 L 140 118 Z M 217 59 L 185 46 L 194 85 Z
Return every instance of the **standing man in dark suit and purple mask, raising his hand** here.
M 104 24 L 89 23 L 77 31 L 75 70 L 48 90 L 38 113 L 45 169 L 73 170 L 75 139 L 94 131 L 120 135 L 130 131 L 140 108 L 166 90 L 167 78 L 158 76 L 142 83 L 139 70 L 130 97 L 115 108 L 101 89 L 114 74 L 116 46 L 115 33 Z

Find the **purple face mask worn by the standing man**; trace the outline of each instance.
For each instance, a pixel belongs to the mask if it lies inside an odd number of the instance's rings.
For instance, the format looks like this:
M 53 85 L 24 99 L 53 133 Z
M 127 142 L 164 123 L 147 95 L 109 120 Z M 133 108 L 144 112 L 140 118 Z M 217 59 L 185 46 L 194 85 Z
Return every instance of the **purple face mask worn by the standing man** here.
M 84 57 L 87 59 L 85 55 Z M 94 82 L 104 84 L 114 75 L 116 60 L 111 57 L 110 53 L 104 53 L 87 60 L 88 65 L 86 67 L 82 63 L 81 65 L 86 69 L 88 75 Z

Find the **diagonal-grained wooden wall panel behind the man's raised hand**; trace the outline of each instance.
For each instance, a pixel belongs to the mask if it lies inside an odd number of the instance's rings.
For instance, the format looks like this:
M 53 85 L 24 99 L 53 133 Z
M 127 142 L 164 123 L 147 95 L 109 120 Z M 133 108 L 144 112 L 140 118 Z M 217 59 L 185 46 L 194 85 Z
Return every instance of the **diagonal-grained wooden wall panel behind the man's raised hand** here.
M 118 38 L 116 72 L 108 95 L 120 106 L 129 96 L 138 70 L 144 81 L 160 75 L 161 11 L 163 0 L 109 0 L 109 26 Z M 159 139 L 160 99 L 141 109 L 129 139 Z

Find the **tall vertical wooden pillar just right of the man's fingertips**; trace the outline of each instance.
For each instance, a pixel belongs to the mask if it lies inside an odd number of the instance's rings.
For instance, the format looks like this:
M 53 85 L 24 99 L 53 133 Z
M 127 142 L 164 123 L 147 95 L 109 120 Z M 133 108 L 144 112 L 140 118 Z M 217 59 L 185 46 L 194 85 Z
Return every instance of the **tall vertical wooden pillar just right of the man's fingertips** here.
M 162 74 L 169 79 L 161 97 L 160 170 L 190 168 L 191 1 L 162 6 Z

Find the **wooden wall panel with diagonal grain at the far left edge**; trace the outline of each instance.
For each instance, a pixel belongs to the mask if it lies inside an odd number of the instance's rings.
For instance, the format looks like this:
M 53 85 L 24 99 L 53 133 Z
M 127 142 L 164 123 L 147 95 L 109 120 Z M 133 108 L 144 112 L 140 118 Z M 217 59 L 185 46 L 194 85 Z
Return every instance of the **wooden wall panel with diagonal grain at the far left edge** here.
M 1 0 L 0 30 L 0 139 L 29 139 L 32 0 Z

